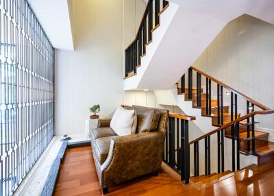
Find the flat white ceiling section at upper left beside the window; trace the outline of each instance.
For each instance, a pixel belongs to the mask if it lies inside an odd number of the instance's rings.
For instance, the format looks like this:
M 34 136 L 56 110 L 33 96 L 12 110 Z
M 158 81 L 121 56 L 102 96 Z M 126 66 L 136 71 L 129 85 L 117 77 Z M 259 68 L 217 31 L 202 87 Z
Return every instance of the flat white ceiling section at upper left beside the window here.
M 55 49 L 73 50 L 67 0 L 27 0 Z

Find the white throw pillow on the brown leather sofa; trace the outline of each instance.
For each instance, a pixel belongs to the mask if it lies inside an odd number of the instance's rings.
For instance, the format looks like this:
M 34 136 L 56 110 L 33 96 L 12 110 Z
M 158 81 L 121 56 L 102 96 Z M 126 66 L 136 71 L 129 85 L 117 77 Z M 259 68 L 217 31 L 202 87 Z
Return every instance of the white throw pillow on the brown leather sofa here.
M 134 134 L 135 132 L 132 132 L 134 113 L 134 110 L 125 110 L 123 107 L 117 108 L 110 121 L 110 128 L 112 128 L 118 136 Z

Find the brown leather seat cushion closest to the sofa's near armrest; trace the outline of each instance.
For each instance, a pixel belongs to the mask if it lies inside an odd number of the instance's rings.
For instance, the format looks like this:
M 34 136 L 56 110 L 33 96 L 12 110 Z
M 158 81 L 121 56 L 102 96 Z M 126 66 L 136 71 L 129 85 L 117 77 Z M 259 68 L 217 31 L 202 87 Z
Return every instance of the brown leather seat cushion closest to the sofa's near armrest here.
M 110 151 L 110 142 L 112 138 L 116 137 L 118 136 L 108 136 L 95 139 L 93 147 L 99 164 L 103 164 L 103 162 L 105 162 L 105 159 L 108 157 L 108 152 Z

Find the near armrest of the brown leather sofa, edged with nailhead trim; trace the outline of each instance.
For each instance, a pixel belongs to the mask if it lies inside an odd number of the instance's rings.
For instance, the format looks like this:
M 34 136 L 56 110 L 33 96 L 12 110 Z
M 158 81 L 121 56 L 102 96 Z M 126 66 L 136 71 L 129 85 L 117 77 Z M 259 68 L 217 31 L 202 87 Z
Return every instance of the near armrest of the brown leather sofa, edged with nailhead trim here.
M 113 138 L 108 158 L 101 165 L 103 188 L 160 169 L 164 134 L 146 132 Z

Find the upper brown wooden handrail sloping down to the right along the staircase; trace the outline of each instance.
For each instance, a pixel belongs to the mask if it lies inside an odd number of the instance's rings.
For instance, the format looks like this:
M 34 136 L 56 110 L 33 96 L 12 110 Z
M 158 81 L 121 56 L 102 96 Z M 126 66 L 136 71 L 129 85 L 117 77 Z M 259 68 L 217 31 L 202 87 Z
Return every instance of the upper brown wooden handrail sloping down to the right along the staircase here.
M 262 110 L 271 110 L 270 108 L 262 105 L 261 103 L 259 103 L 258 101 L 255 101 L 253 99 L 251 99 L 250 97 L 247 97 L 247 95 L 244 95 L 242 93 L 240 93 L 238 90 L 235 90 L 234 88 L 227 86 L 226 84 L 224 84 L 223 82 L 220 82 L 218 79 L 215 79 L 214 77 L 211 77 L 210 75 L 203 73 L 203 71 L 200 71 L 199 69 L 197 69 L 194 66 L 190 66 L 191 69 L 197 71 L 198 73 L 200 73 L 201 75 L 208 77 L 208 79 L 211 79 L 212 81 L 216 82 L 217 84 L 220 84 L 221 86 L 227 88 L 227 90 L 232 91 L 233 93 L 235 93 L 236 95 L 239 95 L 240 97 L 247 99 L 247 101 L 253 103 L 255 106 L 257 106 L 258 108 L 261 108 Z

